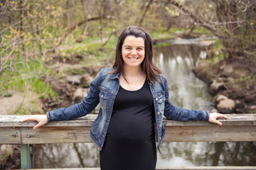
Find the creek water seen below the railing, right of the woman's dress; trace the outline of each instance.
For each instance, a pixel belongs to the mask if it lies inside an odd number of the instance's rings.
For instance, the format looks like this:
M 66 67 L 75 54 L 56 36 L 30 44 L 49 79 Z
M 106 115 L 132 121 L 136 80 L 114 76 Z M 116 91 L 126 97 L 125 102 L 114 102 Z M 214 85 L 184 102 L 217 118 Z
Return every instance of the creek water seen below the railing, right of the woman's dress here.
M 256 142 L 166 142 L 164 166 L 255 166 Z

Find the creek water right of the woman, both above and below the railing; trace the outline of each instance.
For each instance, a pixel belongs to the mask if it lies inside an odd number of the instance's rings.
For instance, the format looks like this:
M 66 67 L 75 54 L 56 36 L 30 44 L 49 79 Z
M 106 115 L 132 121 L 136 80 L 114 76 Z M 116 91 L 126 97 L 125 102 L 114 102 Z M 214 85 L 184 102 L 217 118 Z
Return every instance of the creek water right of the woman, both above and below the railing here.
M 206 57 L 201 45 L 172 45 L 154 51 L 154 63 L 169 83 L 169 98 L 175 106 L 210 111 L 208 86 L 191 72 Z M 254 148 L 248 150 L 248 148 Z M 256 142 L 165 142 L 158 153 L 158 167 L 255 165 Z

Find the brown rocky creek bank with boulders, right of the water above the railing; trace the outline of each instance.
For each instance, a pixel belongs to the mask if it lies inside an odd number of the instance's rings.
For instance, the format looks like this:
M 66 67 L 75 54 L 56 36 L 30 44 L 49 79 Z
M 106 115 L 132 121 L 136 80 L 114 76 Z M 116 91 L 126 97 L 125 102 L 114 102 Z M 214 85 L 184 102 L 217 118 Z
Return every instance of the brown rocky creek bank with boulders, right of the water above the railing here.
M 256 113 L 256 80 L 245 57 L 202 60 L 193 73 L 206 82 L 219 113 Z

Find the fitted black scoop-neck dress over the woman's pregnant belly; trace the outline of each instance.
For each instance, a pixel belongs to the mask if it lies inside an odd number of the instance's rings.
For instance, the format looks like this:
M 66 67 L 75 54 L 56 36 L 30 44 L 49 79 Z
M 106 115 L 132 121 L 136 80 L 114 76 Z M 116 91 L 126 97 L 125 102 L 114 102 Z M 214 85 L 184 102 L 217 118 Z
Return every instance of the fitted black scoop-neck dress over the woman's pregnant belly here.
M 119 87 L 105 143 L 101 170 L 155 170 L 154 103 L 149 84 L 127 91 Z

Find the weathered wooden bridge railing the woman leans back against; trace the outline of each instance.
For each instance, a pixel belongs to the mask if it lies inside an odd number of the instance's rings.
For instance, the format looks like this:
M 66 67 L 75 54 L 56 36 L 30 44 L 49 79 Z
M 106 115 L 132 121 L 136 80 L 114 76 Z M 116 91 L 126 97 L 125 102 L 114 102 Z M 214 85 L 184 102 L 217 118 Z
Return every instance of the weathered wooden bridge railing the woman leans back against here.
M 21 169 L 29 169 L 29 145 L 50 143 L 88 143 L 90 127 L 96 115 L 75 120 L 49 122 L 33 130 L 35 121 L 22 122 L 31 115 L 0 115 L 0 144 L 21 145 Z M 164 142 L 249 142 L 256 141 L 256 114 L 230 114 L 220 120 L 222 126 L 207 121 L 176 121 L 164 119 Z M 208 167 L 210 169 L 211 167 Z M 223 169 L 255 169 L 256 166 L 224 166 Z M 171 169 L 171 168 L 166 168 Z M 176 168 L 178 169 L 178 168 Z M 193 167 L 183 168 L 193 169 Z M 206 169 L 206 168 L 201 168 Z M 221 167 L 212 167 L 221 169 Z M 95 169 L 96 170 L 96 169 Z

